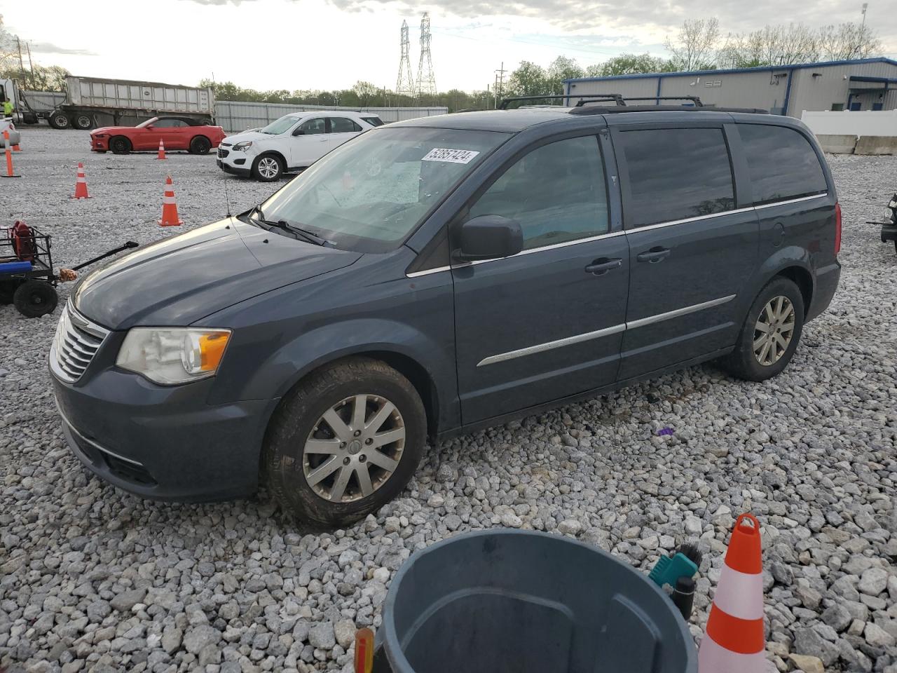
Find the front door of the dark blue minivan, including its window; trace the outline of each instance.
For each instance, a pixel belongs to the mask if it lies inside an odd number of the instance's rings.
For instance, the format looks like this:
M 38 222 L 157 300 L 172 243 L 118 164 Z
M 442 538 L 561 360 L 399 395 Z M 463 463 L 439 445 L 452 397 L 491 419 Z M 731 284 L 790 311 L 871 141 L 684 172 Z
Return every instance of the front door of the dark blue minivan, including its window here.
M 524 249 L 452 269 L 465 424 L 614 382 L 629 253 L 610 211 L 597 135 L 542 144 L 476 198 L 466 216 L 516 220 Z

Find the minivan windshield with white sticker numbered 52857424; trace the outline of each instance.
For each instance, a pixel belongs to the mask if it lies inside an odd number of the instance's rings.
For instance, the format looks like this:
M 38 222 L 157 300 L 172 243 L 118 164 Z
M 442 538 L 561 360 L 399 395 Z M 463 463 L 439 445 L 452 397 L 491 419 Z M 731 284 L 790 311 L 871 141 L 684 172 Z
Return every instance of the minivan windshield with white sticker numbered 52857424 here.
M 510 134 L 380 127 L 313 164 L 261 205 L 337 248 L 396 249 L 418 223 Z

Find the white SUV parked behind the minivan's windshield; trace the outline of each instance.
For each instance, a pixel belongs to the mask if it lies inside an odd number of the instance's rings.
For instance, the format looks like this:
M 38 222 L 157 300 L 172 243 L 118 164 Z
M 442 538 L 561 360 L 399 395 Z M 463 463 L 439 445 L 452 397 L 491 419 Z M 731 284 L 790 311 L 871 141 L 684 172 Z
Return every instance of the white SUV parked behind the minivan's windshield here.
M 370 112 L 293 112 L 256 131 L 228 136 L 218 146 L 218 167 L 273 182 L 288 170 L 308 168 L 350 138 L 382 125 Z

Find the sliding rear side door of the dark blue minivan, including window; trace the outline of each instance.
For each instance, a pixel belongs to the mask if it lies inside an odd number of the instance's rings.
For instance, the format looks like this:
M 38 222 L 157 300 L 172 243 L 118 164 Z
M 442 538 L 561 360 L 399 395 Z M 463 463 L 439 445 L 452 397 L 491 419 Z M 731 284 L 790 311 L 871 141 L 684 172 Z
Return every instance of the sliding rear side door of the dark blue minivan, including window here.
M 721 124 L 616 127 L 612 137 L 630 249 L 625 380 L 735 344 L 759 227 L 749 195 L 736 201 Z

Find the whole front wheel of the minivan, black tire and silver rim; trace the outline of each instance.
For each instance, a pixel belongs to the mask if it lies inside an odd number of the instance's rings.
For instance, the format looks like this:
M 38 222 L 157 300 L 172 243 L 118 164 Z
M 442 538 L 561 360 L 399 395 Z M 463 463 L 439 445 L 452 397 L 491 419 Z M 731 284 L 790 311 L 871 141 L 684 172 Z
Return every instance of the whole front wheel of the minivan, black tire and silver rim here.
M 385 363 L 355 357 L 309 375 L 274 414 L 267 482 L 284 511 L 343 528 L 414 476 L 427 421 L 417 390 Z

